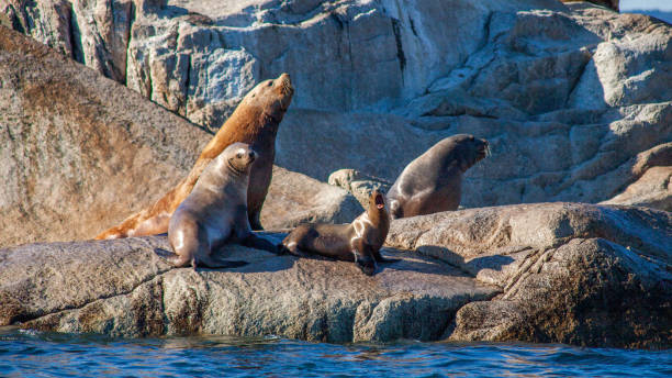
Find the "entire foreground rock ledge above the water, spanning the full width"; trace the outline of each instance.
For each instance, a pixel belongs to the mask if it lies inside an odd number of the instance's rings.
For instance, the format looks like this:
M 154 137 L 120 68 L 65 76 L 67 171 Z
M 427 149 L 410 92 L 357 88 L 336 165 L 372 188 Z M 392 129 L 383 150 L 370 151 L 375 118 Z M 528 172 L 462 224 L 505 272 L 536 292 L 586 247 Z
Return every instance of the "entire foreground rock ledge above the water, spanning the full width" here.
M 268 234 L 280 238 L 282 234 Z M 171 268 L 165 236 L 0 249 L 0 325 L 136 337 L 524 341 L 670 347 L 672 213 L 537 203 L 397 220 L 354 264 L 229 245 L 236 269 Z

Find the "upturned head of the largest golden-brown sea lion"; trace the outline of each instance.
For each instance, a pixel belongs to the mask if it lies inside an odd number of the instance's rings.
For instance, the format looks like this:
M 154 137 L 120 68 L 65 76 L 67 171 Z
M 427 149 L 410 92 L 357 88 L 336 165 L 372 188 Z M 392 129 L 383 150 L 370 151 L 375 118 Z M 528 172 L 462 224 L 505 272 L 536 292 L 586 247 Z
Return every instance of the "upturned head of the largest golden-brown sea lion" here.
M 243 102 L 280 123 L 292 102 L 292 96 L 294 96 L 292 80 L 289 74 L 282 74 L 277 79 L 259 82 L 245 96 Z

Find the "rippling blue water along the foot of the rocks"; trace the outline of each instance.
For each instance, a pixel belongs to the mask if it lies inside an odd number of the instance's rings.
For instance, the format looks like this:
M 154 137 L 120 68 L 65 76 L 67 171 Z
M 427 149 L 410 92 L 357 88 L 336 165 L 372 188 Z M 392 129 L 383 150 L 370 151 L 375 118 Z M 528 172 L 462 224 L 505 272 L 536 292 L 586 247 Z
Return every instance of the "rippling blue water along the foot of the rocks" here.
M 565 345 L 111 340 L 0 329 L 1 377 L 670 377 L 672 352 Z

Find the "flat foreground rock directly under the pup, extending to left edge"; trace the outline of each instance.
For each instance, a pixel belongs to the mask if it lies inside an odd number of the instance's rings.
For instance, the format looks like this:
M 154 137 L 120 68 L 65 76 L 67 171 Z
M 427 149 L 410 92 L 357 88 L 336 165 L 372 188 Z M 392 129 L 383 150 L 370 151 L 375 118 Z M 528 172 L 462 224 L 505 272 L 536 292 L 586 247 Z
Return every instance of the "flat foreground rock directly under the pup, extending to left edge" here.
M 158 248 L 158 249 L 157 249 Z M 165 236 L 0 249 L 0 324 L 113 336 L 281 335 L 323 342 L 437 340 L 496 288 L 416 254 L 373 277 L 351 263 L 227 245 L 249 265 L 171 269 Z M 110 269 L 110 266 L 114 267 Z

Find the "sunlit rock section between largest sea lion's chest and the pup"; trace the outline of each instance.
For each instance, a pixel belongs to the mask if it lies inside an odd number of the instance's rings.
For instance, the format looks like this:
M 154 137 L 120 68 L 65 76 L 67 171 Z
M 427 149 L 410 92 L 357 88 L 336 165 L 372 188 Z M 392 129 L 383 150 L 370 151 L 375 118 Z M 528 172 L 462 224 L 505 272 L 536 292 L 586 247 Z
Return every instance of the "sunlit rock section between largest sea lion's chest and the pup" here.
M 346 190 L 280 167 L 273 167 L 273 179 L 261 210 L 261 224 L 271 230 L 306 222 L 350 223 L 363 212 Z

